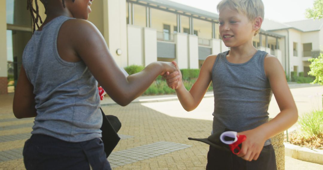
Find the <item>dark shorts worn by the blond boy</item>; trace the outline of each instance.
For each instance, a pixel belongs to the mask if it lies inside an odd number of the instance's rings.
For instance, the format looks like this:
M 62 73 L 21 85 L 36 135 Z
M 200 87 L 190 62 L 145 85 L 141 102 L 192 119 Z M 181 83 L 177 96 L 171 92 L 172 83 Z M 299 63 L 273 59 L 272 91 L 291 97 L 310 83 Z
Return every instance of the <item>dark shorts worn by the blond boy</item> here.
M 276 170 L 276 156 L 273 146 L 267 145 L 257 160 L 251 162 L 234 155 L 232 152 L 222 151 L 210 146 L 207 154 L 207 170 Z

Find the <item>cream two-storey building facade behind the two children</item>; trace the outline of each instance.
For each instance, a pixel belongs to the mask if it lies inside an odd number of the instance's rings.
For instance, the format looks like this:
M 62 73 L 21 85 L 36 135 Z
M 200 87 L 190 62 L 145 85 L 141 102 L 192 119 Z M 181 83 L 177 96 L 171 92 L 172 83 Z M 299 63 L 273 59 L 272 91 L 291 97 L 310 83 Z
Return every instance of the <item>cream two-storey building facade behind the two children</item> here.
M 18 2 L 6 0 L 6 4 L 0 6 L 0 34 L 5 39 L 0 42 L 0 93 L 7 93 L 8 89 L 11 92 L 14 88 L 22 52 L 32 35 L 26 3 Z M 198 69 L 208 55 L 229 49 L 219 36 L 218 14 L 215 13 L 168 0 L 96 0 L 91 8 L 89 21 L 98 27 L 120 67 L 175 60 L 181 69 Z M 45 19 L 41 4 L 39 11 Z M 293 53 L 293 42 L 298 42 L 296 50 L 306 55 L 318 48 L 316 42 L 322 44 L 315 34 L 310 48 L 310 42 L 305 41 L 311 39 L 307 37 L 309 34 L 297 30 L 287 34 L 285 30 L 265 28 L 255 36 L 253 45 L 277 56 L 287 74 L 294 70 L 294 66 L 305 72 L 304 65 L 308 66 L 305 60 L 312 56 L 300 57 L 299 61 L 290 54 Z M 318 34 L 322 33 L 319 31 Z M 8 77 L 13 85 L 11 90 L 7 88 Z

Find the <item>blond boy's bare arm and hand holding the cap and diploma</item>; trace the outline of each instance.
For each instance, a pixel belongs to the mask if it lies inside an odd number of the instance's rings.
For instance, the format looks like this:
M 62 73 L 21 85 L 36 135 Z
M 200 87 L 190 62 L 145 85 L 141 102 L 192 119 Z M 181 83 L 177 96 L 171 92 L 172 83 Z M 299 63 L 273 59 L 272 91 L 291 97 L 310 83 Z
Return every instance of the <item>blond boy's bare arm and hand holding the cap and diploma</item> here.
M 287 85 L 285 72 L 280 62 L 275 56 L 267 55 L 264 65 L 280 113 L 271 121 L 255 129 L 238 133 L 238 135 L 247 136 L 238 156 L 248 161 L 256 160 L 265 141 L 291 127 L 298 118 L 295 101 Z

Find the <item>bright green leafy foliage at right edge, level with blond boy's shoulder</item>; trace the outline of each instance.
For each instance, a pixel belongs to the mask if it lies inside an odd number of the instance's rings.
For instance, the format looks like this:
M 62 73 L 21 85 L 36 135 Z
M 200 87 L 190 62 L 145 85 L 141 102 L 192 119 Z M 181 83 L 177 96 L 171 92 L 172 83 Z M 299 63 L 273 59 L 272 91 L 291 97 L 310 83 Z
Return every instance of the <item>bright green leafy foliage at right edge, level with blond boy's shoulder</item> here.
M 323 85 L 323 54 L 320 53 L 318 58 L 308 59 L 311 62 L 309 68 L 311 71 L 308 72 L 309 75 L 315 76 L 313 83 L 318 83 Z

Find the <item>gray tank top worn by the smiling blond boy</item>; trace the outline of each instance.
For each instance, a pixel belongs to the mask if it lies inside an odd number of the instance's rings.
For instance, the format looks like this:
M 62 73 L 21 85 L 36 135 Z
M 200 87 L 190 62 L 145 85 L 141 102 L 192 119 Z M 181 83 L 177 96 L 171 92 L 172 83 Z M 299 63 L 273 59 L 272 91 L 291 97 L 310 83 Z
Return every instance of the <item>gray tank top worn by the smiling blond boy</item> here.
M 268 121 L 272 91 L 264 70 L 267 52 L 258 50 L 241 64 L 227 61 L 228 52 L 219 53 L 212 68 L 214 132 L 222 128 L 242 132 Z

